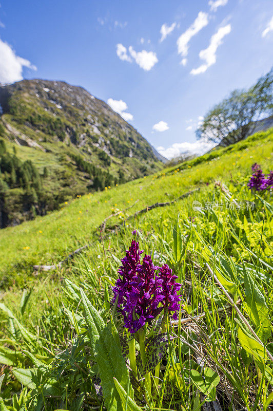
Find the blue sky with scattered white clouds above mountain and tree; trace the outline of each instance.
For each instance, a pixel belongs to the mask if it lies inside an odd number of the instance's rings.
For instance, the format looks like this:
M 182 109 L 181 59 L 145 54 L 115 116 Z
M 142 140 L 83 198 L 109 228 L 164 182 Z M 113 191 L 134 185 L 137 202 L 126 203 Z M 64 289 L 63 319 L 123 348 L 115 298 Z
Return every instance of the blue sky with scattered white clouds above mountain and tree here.
M 204 151 L 206 111 L 273 65 L 271 0 L 0 3 L 0 82 L 81 85 L 168 157 Z

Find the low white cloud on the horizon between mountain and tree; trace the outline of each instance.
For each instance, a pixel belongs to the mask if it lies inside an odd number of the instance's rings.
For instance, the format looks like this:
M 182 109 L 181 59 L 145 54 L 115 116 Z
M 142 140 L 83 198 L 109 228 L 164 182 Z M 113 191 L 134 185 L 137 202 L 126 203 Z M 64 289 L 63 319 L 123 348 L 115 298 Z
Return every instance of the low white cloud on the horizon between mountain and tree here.
M 162 146 L 157 148 L 157 151 L 167 159 L 175 157 L 188 157 L 192 155 L 202 156 L 207 151 L 211 150 L 216 144 L 213 142 L 207 142 L 204 140 L 197 140 L 194 143 L 174 143 L 168 148 Z

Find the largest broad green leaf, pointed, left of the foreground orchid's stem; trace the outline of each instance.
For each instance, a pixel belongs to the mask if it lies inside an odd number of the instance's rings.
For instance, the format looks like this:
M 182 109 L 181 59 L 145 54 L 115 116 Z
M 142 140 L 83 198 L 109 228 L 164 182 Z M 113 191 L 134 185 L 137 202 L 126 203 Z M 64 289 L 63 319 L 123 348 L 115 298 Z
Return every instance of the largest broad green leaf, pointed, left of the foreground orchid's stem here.
M 115 387 L 113 378 L 116 378 L 123 388 L 127 389 L 129 372 L 118 345 L 111 334 L 110 328 L 106 326 L 102 317 L 94 309 L 84 291 L 81 296 L 85 311 L 85 320 L 89 332 L 91 348 L 99 366 L 103 394 L 108 411 L 121 409 L 121 399 Z M 131 385 L 129 395 L 133 396 Z

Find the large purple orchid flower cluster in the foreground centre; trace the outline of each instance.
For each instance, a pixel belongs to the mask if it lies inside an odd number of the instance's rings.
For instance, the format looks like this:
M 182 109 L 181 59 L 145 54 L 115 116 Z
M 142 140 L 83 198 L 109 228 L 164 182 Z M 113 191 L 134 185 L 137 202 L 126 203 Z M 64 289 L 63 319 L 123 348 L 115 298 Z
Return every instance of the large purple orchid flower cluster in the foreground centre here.
M 141 265 L 141 254 L 138 242 L 132 240 L 126 256 L 121 260 L 119 278 L 113 287 L 112 303 L 118 297 L 118 309 L 130 333 L 154 320 L 164 308 L 169 313 L 173 312 L 172 318 L 177 319 L 178 302 L 181 300 L 177 295 L 181 284 L 175 282 L 178 277 L 172 275 L 167 265 L 162 268 L 154 266 L 150 255 L 144 256 Z

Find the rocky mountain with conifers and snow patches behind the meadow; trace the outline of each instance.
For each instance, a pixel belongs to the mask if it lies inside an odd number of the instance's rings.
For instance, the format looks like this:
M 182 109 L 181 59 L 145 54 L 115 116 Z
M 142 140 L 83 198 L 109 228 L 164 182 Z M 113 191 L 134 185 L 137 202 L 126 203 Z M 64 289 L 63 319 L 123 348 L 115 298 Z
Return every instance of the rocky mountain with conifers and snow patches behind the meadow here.
M 0 227 L 162 167 L 104 101 L 62 81 L 0 86 Z

